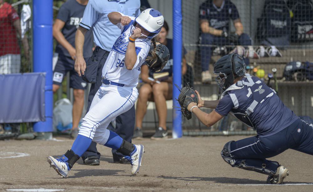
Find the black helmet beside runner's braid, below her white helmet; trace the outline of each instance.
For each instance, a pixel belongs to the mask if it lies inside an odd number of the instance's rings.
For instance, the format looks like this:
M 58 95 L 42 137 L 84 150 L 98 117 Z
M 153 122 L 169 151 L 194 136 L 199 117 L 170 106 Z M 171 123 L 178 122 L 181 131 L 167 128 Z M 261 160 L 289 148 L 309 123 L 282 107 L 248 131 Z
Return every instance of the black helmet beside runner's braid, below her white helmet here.
M 151 51 L 153 51 L 153 49 Z M 151 51 L 149 51 L 147 57 L 152 56 Z M 157 44 L 156 55 L 157 55 L 157 60 L 155 63 L 154 63 L 155 60 L 146 61 L 146 65 L 150 68 L 152 72 L 159 72 L 164 68 L 168 59 L 170 58 L 170 51 L 167 49 L 165 45 Z

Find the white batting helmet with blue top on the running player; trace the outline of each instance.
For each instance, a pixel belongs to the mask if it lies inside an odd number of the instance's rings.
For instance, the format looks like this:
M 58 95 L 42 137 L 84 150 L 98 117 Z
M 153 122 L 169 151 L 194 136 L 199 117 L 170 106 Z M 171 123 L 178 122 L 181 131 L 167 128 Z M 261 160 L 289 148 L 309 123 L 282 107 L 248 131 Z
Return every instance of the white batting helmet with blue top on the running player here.
M 158 10 L 149 8 L 141 12 L 140 15 L 135 18 L 134 26 L 136 26 L 137 23 L 150 32 L 147 39 L 152 39 L 160 33 L 164 18 Z

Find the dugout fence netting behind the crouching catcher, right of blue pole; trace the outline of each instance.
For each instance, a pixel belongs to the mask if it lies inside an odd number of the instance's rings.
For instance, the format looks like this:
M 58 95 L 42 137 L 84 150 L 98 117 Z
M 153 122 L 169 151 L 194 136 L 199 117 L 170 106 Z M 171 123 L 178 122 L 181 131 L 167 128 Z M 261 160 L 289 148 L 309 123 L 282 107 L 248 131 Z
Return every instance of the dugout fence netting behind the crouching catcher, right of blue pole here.
M 238 40 L 208 32 L 212 31 L 208 27 L 228 35 L 240 32 L 239 21 L 243 34 Z M 277 90 L 296 115 L 313 117 L 311 0 L 182 0 L 182 36 L 185 58 L 192 67 L 188 78 L 203 99 L 219 99 L 213 64 L 235 52 L 244 57 L 247 72 Z M 212 127 L 205 127 L 195 117 L 183 120 L 182 127 L 184 135 L 255 134 L 230 115 Z

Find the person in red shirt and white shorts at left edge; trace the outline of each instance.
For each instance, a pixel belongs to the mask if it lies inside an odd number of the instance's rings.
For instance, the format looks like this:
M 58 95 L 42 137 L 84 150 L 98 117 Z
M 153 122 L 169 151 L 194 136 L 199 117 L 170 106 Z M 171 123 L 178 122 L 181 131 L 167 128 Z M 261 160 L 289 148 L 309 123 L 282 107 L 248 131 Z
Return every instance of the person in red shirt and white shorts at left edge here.
M 9 3 L 0 0 L 0 74 L 20 72 L 21 54 L 17 34 L 21 37 L 18 14 Z M 26 36 L 22 39 L 22 43 L 28 60 L 29 48 Z

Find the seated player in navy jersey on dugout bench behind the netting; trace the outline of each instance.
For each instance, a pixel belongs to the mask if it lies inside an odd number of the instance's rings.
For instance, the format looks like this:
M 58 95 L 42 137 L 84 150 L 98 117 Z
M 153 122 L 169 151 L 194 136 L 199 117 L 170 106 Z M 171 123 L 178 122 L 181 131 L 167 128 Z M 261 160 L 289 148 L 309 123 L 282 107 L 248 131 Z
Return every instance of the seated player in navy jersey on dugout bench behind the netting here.
M 207 0 L 200 6 L 200 44 L 201 45 L 251 45 L 248 34 L 244 34 L 244 27 L 240 21 L 236 6 L 230 0 Z M 236 40 L 230 39 L 229 20 L 233 20 Z M 201 69 L 202 82 L 210 83 L 212 80 L 209 73 L 212 47 L 201 46 Z M 249 64 L 249 59 L 245 59 Z

